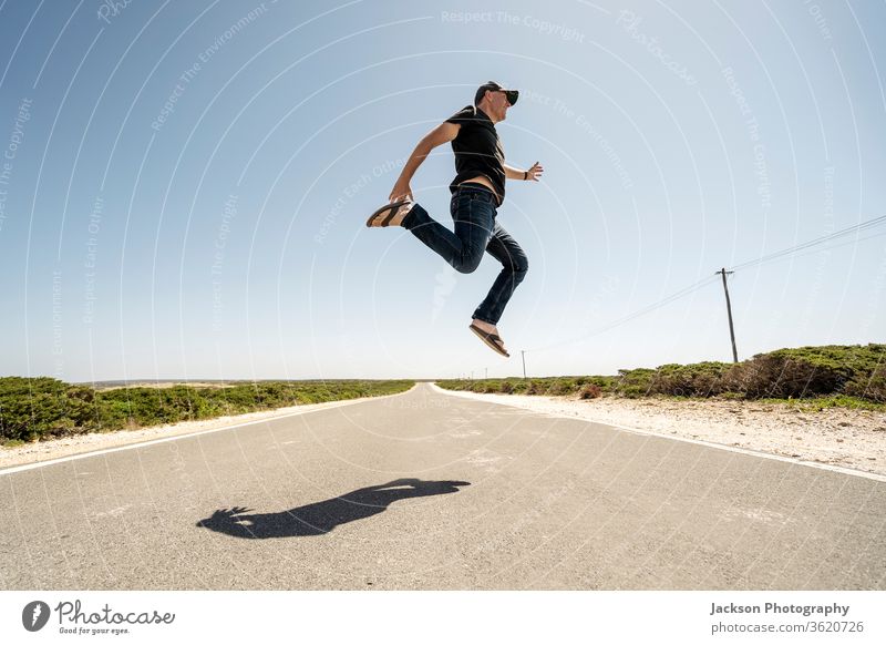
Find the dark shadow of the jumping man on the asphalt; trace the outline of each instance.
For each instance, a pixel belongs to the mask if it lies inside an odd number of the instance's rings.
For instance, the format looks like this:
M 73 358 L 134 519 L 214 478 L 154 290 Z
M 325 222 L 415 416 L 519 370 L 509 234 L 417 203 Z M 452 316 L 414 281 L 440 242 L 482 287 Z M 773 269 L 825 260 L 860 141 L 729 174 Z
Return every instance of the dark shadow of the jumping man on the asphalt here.
M 387 484 L 358 489 L 339 498 L 297 506 L 279 513 L 247 515 L 250 509 L 219 509 L 197 526 L 235 538 L 302 538 L 329 533 L 339 524 L 363 520 L 388 509 L 391 502 L 459 492 L 466 481 L 422 481 L 398 479 Z

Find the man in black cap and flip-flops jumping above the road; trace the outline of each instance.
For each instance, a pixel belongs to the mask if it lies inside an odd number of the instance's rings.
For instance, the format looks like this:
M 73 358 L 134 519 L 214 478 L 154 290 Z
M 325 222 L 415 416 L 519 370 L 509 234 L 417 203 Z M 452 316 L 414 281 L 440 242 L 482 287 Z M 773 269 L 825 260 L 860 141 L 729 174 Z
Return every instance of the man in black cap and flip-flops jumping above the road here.
M 535 162 L 522 171 L 505 163 L 495 124 L 507 117 L 517 102 L 517 90 L 505 90 L 488 81 L 466 105 L 434 127 L 419 142 L 396 180 L 390 203 L 367 221 L 369 227 L 402 226 L 436 252 L 452 267 L 470 274 L 480 266 L 483 252 L 502 263 L 488 295 L 474 311 L 470 329 L 503 356 L 511 356 L 496 325 L 507 301 L 528 270 L 526 254 L 496 222 L 496 209 L 505 198 L 505 180 L 537 182 L 544 168 Z M 450 184 L 450 213 L 454 232 L 431 218 L 412 198 L 410 181 L 433 149 L 452 142 L 455 153 L 455 178 Z

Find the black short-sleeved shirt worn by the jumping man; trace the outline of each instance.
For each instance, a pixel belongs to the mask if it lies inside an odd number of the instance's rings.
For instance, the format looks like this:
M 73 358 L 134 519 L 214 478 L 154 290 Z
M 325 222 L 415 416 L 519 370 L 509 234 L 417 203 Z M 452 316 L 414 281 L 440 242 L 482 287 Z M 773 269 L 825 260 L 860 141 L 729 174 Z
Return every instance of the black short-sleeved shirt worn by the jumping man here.
M 475 105 L 465 105 L 446 122 L 461 125 L 459 135 L 452 140 L 456 174 L 450 184 L 450 192 L 454 193 L 465 180 L 483 175 L 495 188 L 501 206 L 505 201 L 505 151 L 495 124 Z

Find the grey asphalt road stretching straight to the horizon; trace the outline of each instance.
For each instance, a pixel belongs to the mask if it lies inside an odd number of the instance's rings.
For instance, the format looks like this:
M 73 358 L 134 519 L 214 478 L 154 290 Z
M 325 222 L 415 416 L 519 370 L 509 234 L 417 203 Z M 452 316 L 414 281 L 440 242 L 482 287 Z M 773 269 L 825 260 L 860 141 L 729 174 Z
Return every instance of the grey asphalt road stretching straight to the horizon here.
M 410 392 L 0 472 L 6 590 L 886 588 L 886 483 Z

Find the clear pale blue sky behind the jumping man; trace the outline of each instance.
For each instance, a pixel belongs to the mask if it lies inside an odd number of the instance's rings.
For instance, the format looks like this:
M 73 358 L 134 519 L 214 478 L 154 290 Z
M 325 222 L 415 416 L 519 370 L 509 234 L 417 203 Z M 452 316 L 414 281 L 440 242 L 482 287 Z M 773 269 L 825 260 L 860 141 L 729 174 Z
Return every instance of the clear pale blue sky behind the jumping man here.
M 0 3 L 0 373 L 423 378 L 730 360 L 714 276 L 886 214 L 882 2 Z M 529 273 L 369 231 L 488 79 Z M 416 173 L 443 223 L 449 146 Z M 730 277 L 740 358 L 883 342 L 886 227 Z M 707 281 L 704 281 L 707 280 Z M 681 289 L 686 297 L 632 317 Z M 629 318 L 627 321 L 618 322 Z

